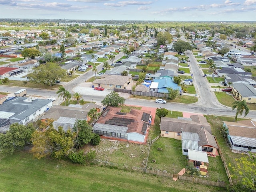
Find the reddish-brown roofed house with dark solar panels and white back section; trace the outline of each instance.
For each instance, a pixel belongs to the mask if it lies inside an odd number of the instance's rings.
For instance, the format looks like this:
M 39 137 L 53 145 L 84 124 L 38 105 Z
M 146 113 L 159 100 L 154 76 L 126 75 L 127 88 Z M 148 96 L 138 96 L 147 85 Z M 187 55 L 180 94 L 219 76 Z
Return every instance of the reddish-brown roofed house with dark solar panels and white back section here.
M 146 143 L 150 111 L 131 109 L 129 113 L 121 108 L 108 106 L 93 126 L 93 132 L 107 138 Z

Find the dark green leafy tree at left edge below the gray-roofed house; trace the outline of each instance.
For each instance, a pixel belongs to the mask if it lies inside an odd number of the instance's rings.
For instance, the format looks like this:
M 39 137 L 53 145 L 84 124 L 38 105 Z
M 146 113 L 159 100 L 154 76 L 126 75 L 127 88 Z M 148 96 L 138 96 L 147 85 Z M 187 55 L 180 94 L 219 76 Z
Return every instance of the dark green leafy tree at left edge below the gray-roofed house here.
M 22 150 L 31 142 L 32 133 L 35 131 L 33 124 L 22 125 L 14 123 L 6 134 L 0 133 L 0 152 L 13 154 L 16 150 Z

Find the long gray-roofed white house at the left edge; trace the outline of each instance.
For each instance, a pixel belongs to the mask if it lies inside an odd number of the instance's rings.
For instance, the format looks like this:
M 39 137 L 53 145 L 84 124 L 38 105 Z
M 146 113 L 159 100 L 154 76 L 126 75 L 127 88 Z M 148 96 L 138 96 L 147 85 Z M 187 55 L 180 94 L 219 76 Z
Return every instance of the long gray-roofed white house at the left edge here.
M 0 131 L 6 132 L 10 124 L 26 125 L 52 107 L 52 100 L 16 97 L 0 105 Z

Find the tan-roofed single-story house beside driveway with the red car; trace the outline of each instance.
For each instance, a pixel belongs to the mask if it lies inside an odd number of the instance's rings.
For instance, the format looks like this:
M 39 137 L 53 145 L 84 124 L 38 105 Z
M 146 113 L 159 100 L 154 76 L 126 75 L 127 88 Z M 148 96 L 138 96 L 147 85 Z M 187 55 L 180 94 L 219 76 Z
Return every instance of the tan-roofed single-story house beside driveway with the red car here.
M 118 79 L 118 80 L 117 80 Z M 116 76 L 116 75 L 102 75 L 100 79 L 96 79 L 92 82 L 93 86 L 103 87 L 105 89 L 126 89 L 126 86 L 130 84 L 132 80 L 131 76 Z

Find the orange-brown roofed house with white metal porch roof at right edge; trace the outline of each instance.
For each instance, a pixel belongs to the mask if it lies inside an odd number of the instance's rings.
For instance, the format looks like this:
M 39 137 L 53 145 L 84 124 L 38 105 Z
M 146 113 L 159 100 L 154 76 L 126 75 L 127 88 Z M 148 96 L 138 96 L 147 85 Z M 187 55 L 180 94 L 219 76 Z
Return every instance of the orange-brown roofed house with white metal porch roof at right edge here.
M 223 121 L 232 150 L 256 152 L 256 122 L 242 120 L 238 122 Z

